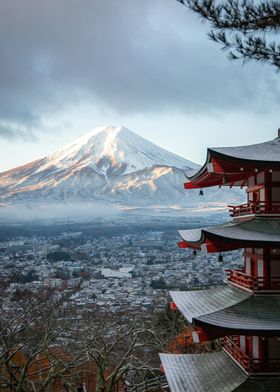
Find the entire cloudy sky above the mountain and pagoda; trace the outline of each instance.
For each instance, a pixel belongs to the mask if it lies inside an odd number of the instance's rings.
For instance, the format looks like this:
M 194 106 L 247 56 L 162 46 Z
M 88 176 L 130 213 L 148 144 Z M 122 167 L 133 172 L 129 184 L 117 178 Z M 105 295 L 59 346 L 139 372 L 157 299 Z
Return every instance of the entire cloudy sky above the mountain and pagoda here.
M 0 0 L 0 171 L 99 125 L 202 163 L 280 127 L 280 75 L 230 62 L 175 0 Z

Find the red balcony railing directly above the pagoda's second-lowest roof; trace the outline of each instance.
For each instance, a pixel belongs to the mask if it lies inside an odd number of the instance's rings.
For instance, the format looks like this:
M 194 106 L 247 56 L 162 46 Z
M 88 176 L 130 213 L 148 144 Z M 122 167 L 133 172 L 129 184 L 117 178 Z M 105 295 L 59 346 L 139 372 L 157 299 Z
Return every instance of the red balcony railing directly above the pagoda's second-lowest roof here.
M 245 274 L 242 270 L 226 269 L 227 279 L 231 283 L 252 291 L 280 290 L 280 276 L 259 277 Z

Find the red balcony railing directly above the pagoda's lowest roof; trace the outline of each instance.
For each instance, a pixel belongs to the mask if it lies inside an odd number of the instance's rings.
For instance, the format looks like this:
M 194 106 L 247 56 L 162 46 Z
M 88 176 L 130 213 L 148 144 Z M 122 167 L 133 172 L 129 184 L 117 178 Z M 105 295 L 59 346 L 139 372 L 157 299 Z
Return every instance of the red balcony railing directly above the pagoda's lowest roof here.
M 223 348 L 249 373 L 279 373 L 280 358 L 252 358 L 238 346 L 236 337 L 225 337 Z

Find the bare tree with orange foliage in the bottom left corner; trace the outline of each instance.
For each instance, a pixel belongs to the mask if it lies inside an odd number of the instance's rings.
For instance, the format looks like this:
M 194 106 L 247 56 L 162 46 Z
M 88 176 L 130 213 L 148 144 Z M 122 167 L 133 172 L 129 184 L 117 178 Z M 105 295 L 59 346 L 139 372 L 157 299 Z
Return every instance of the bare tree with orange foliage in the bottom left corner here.
M 0 289 L 0 391 L 76 391 L 84 355 L 69 355 L 62 342 L 71 333 L 71 314 L 52 291 L 31 292 L 12 302 Z

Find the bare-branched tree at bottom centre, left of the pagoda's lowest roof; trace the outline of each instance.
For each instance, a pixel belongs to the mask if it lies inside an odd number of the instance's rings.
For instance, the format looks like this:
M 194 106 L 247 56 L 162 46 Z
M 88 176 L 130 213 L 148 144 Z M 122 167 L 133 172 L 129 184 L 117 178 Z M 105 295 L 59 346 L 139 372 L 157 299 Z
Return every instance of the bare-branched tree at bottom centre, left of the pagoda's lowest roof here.
M 82 351 L 95 367 L 96 392 L 114 392 L 129 372 L 152 370 L 150 355 L 145 355 L 156 344 L 149 322 L 90 317 L 83 336 Z

